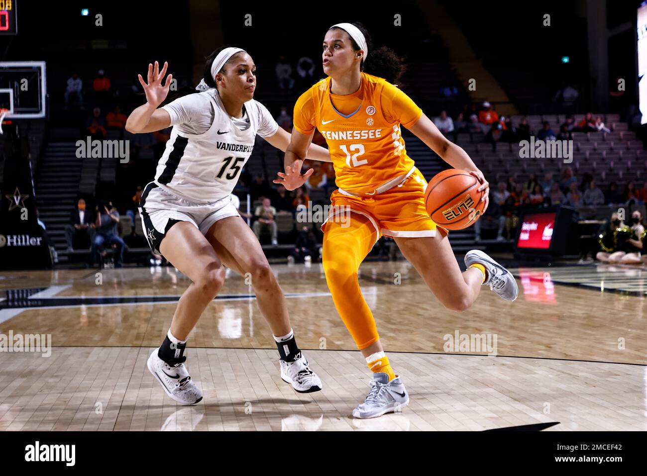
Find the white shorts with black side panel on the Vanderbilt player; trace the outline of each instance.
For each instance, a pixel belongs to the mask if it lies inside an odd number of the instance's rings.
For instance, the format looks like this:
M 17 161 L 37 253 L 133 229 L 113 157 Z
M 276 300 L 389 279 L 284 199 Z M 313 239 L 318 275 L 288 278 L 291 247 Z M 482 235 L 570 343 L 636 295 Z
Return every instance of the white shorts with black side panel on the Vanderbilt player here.
M 206 235 L 215 222 L 240 216 L 231 195 L 212 203 L 195 203 L 178 197 L 155 182 L 150 182 L 144 188 L 139 213 L 142 215 L 142 228 L 148 246 L 155 254 L 161 254 L 160 243 L 177 222 L 187 221 Z

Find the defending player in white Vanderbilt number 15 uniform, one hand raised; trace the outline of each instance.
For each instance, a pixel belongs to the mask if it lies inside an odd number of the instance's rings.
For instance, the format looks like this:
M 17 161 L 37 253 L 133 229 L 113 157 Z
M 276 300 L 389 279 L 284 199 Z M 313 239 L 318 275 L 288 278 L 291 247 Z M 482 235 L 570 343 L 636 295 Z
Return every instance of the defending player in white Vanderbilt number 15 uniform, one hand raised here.
M 148 359 L 148 369 L 173 400 L 181 404 L 202 400 L 184 365 L 184 350 L 195 323 L 223 287 L 227 266 L 252 277 L 258 306 L 279 350 L 281 378 L 298 392 L 319 391 L 321 380 L 296 345 L 283 292 L 254 232 L 232 203 L 232 190 L 256 134 L 282 151 L 290 135 L 252 99 L 256 67 L 245 50 L 214 51 L 197 87 L 201 92 L 159 107 L 172 80 L 169 74 L 162 85 L 167 68 L 164 63 L 160 72 L 155 61 L 148 65 L 147 82 L 138 75 L 146 104 L 130 114 L 126 129 L 148 133 L 173 126 L 155 180 L 142 194 L 140 214 L 151 250 L 164 255 L 192 284 L 180 297 L 164 342 Z M 318 146 L 310 148 L 308 158 L 331 161 L 327 149 Z M 301 164 L 294 164 L 294 169 L 299 171 Z

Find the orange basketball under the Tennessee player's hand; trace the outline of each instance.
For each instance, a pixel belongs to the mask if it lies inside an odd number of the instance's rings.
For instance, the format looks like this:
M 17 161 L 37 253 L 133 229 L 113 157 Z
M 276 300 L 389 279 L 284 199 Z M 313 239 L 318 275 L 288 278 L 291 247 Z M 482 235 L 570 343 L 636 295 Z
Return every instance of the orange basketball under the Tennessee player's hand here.
M 463 230 L 483 213 L 483 191 L 479 181 L 469 172 L 448 169 L 430 180 L 424 192 L 424 205 L 432 220 L 447 230 Z

